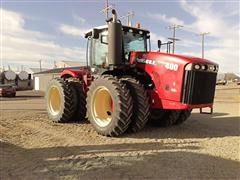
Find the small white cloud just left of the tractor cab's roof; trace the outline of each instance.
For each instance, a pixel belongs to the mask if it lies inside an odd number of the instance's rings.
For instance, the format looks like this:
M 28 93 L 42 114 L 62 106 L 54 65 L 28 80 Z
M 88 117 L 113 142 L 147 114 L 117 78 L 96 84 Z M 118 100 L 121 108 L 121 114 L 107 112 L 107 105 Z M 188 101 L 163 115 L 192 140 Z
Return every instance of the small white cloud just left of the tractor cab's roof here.
M 82 38 L 84 37 L 84 34 L 87 32 L 88 29 L 79 28 L 67 24 L 61 24 L 59 26 L 59 30 L 65 34 Z

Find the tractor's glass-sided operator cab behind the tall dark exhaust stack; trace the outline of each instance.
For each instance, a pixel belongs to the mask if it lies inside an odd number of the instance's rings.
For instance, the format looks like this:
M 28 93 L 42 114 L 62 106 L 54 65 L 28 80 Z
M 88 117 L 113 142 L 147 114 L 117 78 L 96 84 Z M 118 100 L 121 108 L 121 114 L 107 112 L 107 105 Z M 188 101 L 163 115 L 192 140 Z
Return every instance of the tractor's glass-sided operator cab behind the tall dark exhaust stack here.
M 107 68 L 114 64 L 114 60 L 109 59 L 112 51 L 118 52 L 118 57 L 115 57 L 118 59 L 117 65 L 128 64 L 130 52 L 150 51 L 150 32 L 148 30 L 122 26 L 119 32 L 120 34 L 113 34 L 116 37 L 113 43 L 118 45 L 116 47 L 118 49 L 108 48 L 109 25 L 96 27 L 85 34 L 85 38 L 88 39 L 87 61 L 91 67 Z

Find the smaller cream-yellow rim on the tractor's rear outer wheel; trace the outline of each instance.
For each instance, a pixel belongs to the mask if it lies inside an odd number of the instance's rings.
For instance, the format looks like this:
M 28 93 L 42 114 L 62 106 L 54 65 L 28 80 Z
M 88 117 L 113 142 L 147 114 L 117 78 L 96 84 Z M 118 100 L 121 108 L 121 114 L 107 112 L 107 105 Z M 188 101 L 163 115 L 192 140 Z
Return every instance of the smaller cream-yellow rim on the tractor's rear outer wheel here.
M 61 110 L 61 95 L 56 86 L 49 90 L 48 105 L 53 115 L 58 114 Z

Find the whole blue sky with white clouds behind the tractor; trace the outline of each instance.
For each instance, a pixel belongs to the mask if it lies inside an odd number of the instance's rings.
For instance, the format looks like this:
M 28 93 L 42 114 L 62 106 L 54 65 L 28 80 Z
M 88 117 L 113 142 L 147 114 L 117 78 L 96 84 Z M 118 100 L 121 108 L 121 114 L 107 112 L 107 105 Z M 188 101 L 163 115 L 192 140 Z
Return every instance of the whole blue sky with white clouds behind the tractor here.
M 151 31 L 153 49 L 157 39 L 167 41 L 171 24 L 177 30 L 176 53 L 201 57 L 201 38 L 205 57 L 220 64 L 221 72 L 240 72 L 238 1 L 114 1 L 120 16 L 134 11 L 133 24 L 140 22 Z M 5 67 L 51 68 L 54 61 L 85 60 L 83 34 L 104 24 L 100 11 L 105 1 L 1 1 L 1 65 Z

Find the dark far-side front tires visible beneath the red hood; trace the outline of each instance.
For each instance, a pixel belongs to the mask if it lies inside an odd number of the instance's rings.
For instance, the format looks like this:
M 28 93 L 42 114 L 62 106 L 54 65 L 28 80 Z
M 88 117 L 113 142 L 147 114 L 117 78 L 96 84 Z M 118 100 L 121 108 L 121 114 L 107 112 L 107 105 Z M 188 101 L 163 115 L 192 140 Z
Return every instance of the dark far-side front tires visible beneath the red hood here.
M 170 127 L 178 119 L 181 111 L 178 110 L 152 110 L 151 111 L 152 123 L 159 127 Z

